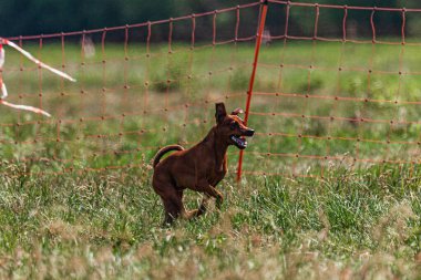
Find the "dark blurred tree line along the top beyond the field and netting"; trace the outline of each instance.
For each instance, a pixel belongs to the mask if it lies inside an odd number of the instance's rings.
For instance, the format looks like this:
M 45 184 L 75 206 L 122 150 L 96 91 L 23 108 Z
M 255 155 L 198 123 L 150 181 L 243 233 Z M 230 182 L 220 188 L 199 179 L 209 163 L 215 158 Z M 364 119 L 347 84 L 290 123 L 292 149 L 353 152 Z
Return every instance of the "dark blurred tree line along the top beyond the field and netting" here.
M 212 11 L 247 2 L 253 2 L 253 0 L 2 0 L 0 1 L 0 37 L 47 34 L 124 25 Z M 300 0 L 300 2 L 394 8 L 421 7 L 420 1 L 417 0 Z M 267 28 L 271 34 L 276 35 L 284 32 L 285 10 L 285 6 L 270 4 Z M 370 37 L 370 14 L 371 11 L 350 11 L 348 13 L 350 32 L 356 35 Z M 256 27 L 256 10 L 244 11 L 240 22 L 242 32 L 248 30 L 248 33 L 253 33 Z M 342 18 L 343 10 L 321 9 L 319 35 L 340 35 L 342 33 Z M 207 22 L 201 24 L 212 25 L 212 17 L 206 20 Z M 377 12 L 374 22 L 380 34 L 384 32 L 388 35 L 400 35 L 402 24 L 400 12 Z M 312 32 L 314 23 L 315 9 L 291 8 L 290 33 L 299 35 Z M 219 33 L 227 32 L 232 35 L 234 25 L 235 17 L 224 18 L 222 15 L 218 18 Z M 405 31 L 409 35 L 420 33 L 420 25 L 421 17 L 419 13 L 407 15 Z M 188 32 L 191 30 L 186 27 L 185 33 Z M 188 38 L 183 37 L 183 31 L 178 33 L 178 37 L 179 39 Z M 162 32 L 162 39 L 165 39 L 164 32 Z M 201 32 L 198 32 L 197 39 L 201 39 Z

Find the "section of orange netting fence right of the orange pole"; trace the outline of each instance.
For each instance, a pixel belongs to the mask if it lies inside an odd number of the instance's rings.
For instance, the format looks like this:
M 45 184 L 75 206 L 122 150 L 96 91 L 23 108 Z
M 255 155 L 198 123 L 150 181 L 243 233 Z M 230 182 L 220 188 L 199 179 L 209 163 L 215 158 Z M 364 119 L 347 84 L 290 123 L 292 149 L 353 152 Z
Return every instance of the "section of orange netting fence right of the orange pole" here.
M 419 168 L 420 42 L 417 37 L 405 39 L 405 23 L 421 10 L 269 2 L 285 9 L 284 30 L 271 35 L 281 41 L 278 60 L 264 58 L 265 50 L 260 53 L 261 80 L 276 82 L 254 89 L 251 126 L 266 125 L 255 138 L 260 145 L 245 152 L 247 160 L 260 160 L 259 168 L 249 166 L 245 173 L 324 177 L 332 166 Z M 319 35 L 320 21 L 332 9 L 337 22 L 325 22 L 324 28 L 336 24 L 340 32 Z M 294 29 L 294 12 L 312 24 Z M 356 13 L 363 20 L 351 21 Z M 384 13 L 400 18 L 398 37 L 383 27 Z M 359 29 L 366 34 L 359 35 Z

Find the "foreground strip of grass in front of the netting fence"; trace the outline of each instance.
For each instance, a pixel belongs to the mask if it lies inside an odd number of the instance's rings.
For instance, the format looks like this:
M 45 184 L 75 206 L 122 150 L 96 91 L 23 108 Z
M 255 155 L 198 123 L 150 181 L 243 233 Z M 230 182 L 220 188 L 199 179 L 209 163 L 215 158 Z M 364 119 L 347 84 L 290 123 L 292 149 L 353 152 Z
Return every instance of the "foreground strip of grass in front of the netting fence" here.
M 3 165 L 1 278 L 417 278 L 421 177 L 394 167 L 325 180 L 220 185 L 222 211 L 162 228 L 151 166 L 19 176 Z M 13 175 L 17 175 L 14 177 Z M 189 208 L 199 197 L 187 193 Z M 328 270 L 325 268 L 329 267 Z

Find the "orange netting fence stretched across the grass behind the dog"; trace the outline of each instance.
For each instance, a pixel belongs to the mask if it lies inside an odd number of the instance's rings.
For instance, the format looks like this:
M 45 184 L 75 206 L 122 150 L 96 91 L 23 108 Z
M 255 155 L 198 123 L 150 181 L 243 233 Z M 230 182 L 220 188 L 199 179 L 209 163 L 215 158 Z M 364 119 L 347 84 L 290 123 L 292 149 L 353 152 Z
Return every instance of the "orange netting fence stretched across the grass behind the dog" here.
M 324 18 L 330 9 L 341 13 L 337 22 Z M 249 100 L 245 120 L 257 135 L 240 168 L 238 151 L 229 149 L 232 174 L 238 168 L 322 177 L 333 165 L 419 168 L 421 43 L 405 38 L 408 17 L 419 12 L 271 0 L 140 24 L 9 38 L 78 83 L 7 49 L 8 98 L 52 117 L 1 107 L 1 157 L 24 163 L 24 173 L 37 175 L 144 168 L 158 147 L 188 147 L 203 138 L 215 122 L 214 103 L 224 101 L 229 110 Z M 352 13 L 367 21 L 352 22 Z M 381 13 L 399 14 L 399 38 L 379 31 Z M 266 14 L 276 28 L 264 28 Z M 312 24 L 296 27 L 299 17 Z M 330 25 L 339 34 L 321 31 Z M 370 38 L 359 30 L 370 30 Z

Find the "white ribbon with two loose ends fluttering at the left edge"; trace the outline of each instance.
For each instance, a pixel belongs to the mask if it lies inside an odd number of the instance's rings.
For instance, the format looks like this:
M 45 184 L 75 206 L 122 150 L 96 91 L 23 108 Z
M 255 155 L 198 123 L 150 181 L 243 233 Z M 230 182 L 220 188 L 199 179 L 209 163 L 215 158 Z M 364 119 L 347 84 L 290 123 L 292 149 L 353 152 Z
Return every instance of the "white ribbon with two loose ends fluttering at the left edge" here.
M 12 107 L 12 108 L 17 108 L 17 110 L 25 110 L 25 111 L 30 111 L 30 112 L 33 112 L 33 113 L 37 113 L 37 114 L 42 114 L 44 116 L 51 116 L 48 112 L 45 112 L 45 111 L 43 111 L 41 108 L 32 107 L 32 106 L 27 106 L 27 105 L 12 104 L 12 103 L 9 103 L 9 102 L 4 101 L 4 98 L 8 96 L 8 90 L 7 90 L 6 84 L 3 83 L 3 80 L 2 80 L 2 68 L 3 68 L 3 64 L 4 64 L 4 60 L 6 60 L 6 52 L 4 52 L 3 44 L 13 48 L 18 52 L 20 52 L 24 56 L 27 56 L 29 60 L 31 60 L 34 63 L 37 63 L 39 66 L 41 66 L 43 69 L 47 69 L 47 70 L 51 71 L 52 73 L 59 75 L 59 76 L 62 76 L 62 77 L 64 77 L 64 79 L 66 79 L 69 81 L 72 81 L 72 82 L 75 82 L 76 80 L 73 79 L 73 77 L 71 77 L 66 73 L 63 73 L 63 72 L 61 72 L 61 71 L 59 71 L 57 69 L 53 69 L 53 68 L 47 65 L 43 62 L 37 60 L 35 58 L 32 56 L 32 54 L 30 54 L 29 52 L 27 52 L 25 50 L 23 50 L 22 48 L 20 48 L 19 45 L 17 45 L 16 43 L 13 43 L 13 42 L 11 42 L 9 40 L 0 38 L 0 89 L 1 89 L 0 104 L 3 104 L 6 106 Z

